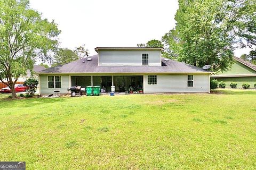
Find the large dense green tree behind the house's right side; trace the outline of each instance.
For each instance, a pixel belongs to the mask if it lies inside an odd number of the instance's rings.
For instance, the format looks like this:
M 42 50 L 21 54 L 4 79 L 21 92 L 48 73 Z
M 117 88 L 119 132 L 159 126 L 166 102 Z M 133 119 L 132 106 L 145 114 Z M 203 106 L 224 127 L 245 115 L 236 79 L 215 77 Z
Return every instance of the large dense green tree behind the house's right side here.
M 235 47 L 255 44 L 255 0 L 179 0 L 175 20 L 163 41 L 182 62 L 226 71 Z

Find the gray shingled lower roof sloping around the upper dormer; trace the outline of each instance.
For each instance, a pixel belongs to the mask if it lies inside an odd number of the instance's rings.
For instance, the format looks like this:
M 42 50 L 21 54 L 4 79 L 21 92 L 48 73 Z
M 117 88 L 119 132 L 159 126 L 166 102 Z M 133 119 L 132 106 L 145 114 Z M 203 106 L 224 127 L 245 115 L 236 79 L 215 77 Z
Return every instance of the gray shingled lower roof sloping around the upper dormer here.
M 98 55 L 90 56 L 92 61 L 86 58 L 70 62 L 67 64 L 50 67 L 37 72 L 45 73 L 203 73 L 210 72 L 199 67 L 169 60 L 164 61 L 162 57 L 162 66 L 98 66 Z M 84 61 L 84 63 L 83 63 Z

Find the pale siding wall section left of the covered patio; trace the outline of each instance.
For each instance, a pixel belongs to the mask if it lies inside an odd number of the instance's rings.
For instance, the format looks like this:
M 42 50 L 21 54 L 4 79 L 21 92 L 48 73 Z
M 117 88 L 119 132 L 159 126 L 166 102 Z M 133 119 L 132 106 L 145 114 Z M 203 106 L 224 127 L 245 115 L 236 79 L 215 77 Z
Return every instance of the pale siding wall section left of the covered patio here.
M 54 90 L 60 90 L 60 94 L 68 94 L 69 75 L 61 75 L 61 88 L 48 88 L 48 75 L 39 75 L 39 93 L 54 94 Z

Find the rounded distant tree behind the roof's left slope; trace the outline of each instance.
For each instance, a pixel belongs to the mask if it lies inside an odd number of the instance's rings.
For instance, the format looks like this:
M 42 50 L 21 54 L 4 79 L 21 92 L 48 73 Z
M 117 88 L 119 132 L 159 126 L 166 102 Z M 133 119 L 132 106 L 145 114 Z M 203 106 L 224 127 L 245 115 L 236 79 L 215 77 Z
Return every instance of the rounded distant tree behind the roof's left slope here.
M 66 64 L 79 59 L 78 55 L 68 48 L 59 48 L 53 58 L 52 66 Z

